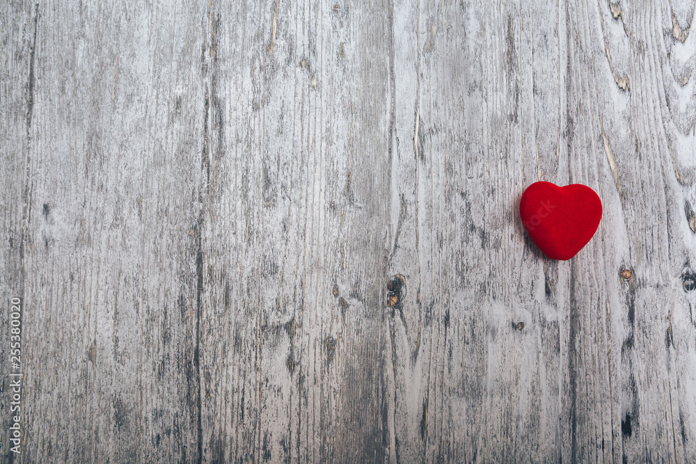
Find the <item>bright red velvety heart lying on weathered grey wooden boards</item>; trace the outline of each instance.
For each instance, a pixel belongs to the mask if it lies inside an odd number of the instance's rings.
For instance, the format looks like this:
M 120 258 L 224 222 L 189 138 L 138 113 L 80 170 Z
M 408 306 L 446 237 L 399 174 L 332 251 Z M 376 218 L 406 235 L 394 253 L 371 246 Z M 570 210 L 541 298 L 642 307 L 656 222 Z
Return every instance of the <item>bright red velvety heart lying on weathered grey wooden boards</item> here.
M 602 202 L 590 187 L 535 182 L 520 199 L 529 237 L 551 259 L 571 259 L 587 244 L 602 218 Z

